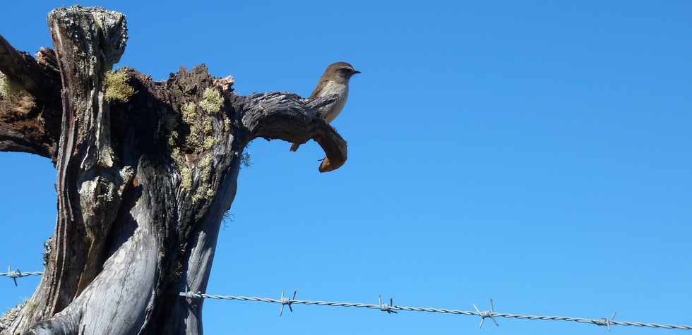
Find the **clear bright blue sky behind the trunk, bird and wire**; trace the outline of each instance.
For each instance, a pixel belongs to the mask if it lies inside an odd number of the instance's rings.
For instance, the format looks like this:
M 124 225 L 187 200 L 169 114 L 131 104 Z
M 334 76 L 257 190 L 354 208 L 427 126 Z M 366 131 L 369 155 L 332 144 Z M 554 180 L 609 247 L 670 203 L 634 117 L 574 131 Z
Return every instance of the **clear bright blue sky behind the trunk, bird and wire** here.
M 5 1 L 35 52 L 63 1 Z M 206 63 L 242 95 L 362 71 L 349 158 L 256 140 L 208 293 L 692 324 L 690 1 L 83 1 L 126 14 L 117 66 Z M 0 154 L 0 264 L 42 269 L 56 172 Z M 0 309 L 37 277 L 0 281 Z M 605 334 L 604 327 L 209 300 L 206 334 Z M 684 331 L 614 327 L 614 334 Z

